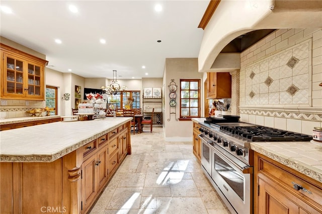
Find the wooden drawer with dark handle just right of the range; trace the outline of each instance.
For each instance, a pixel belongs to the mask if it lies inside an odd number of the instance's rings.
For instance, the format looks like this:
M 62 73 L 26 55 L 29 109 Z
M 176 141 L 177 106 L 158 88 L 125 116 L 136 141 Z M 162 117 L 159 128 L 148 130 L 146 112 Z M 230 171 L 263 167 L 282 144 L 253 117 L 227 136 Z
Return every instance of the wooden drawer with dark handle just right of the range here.
M 285 191 L 288 191 L 292 195 L 297 195 L 297 197 L 302 199 L 305 198 L 305 201 L 311 205 L 315 204 L 316 202 L 320 203 L 320 201 L 322 201 L 322 186 L 317 186 L 308 182 L 305 179 L 305 175 L 300 177 L 297 174 L 287 172 L 285 169 L 274 165 L 273 163 L 268 162 L 261 157 L 259 158 L 258 166 L 259 173 L 272 177 L 285 188 Z M 296 190 L 294 185 L 300 185 L 303 187 L 303 189 Z M 304 189 L 307 191 L 304 191 Z M 321 205 L 319 205 L 319 207 L 322 208 Z

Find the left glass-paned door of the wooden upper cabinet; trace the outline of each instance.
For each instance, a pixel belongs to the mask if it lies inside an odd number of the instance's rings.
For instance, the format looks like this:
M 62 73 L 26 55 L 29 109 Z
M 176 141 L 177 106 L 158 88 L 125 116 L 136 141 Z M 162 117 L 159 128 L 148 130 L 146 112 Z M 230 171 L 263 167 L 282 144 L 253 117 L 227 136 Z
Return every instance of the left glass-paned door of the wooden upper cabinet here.
M 6 53 L 4 53 L 3 60 L 3 95 L 9 97 L 25 96 L 25 89 L 27 89 L 24 87 L 25 60 Z

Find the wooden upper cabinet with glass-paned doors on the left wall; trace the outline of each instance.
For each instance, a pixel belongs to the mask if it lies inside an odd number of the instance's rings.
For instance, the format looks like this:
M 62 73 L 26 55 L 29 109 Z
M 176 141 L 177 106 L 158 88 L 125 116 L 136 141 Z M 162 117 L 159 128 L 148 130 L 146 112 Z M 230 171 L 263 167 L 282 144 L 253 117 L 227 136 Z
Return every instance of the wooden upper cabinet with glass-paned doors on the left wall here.
M 44 100 L 44 67 L 48 61 L 1 45 L 1 98 Z

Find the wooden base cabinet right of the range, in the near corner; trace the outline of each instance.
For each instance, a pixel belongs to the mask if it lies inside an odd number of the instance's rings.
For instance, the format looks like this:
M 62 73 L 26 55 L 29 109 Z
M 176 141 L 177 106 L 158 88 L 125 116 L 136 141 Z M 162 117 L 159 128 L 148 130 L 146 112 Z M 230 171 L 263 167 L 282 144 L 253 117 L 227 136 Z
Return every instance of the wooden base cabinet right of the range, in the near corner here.
M 257 152 L 254 157 L 254 213 L 322 213 L 320 182 Z

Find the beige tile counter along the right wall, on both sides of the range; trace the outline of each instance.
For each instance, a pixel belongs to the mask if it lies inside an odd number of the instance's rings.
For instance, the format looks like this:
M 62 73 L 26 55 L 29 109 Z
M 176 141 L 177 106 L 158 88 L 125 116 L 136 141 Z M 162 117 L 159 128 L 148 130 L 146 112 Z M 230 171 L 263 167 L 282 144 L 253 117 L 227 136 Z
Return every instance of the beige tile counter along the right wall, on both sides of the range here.
M 205 118 L 192 119 L 203 124 Z M 251 149 L 284 164 L 314 180 L 322 182 L 322 143 L 310 142 L 253 142 Z

